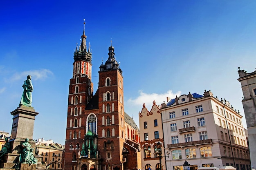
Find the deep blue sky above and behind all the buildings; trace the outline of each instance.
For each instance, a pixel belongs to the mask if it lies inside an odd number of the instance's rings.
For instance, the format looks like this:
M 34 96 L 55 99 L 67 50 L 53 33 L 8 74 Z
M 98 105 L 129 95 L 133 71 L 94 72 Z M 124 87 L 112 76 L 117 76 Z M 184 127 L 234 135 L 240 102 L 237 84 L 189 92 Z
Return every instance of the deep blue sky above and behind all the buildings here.
M 65 144 L 73 52 L 85 18 L 92 82 L 108 58 L 110 40 L 124 75 L 125 111 L 138 124 L 143 103 L 211 90 L 244 115 L 238 66 L 256 68 L 256 1 L 4 1 L 0 6 L 0 131 L 32 75 L 34 139 Z M 243 124 L 246 126 L 245 119 Z M 138 124 L 139 125 L 139 124 Z

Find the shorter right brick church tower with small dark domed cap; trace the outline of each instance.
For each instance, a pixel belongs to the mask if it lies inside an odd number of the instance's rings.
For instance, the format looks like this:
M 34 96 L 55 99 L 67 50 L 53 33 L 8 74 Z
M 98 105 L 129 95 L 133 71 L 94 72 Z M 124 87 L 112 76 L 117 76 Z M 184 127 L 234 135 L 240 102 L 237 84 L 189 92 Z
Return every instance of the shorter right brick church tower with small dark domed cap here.
M 106 170 L 121 170 L 125 142 L 123 76 L 115 60 L 114 47 L 108 48 L 108 60 L 99 71 L 99 139 Z

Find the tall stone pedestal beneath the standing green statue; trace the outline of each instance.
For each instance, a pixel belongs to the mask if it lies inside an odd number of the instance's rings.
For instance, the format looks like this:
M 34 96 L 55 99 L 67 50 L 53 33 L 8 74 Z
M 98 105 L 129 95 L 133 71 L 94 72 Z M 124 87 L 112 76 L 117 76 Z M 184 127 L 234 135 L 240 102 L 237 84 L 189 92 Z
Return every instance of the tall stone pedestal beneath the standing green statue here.
M 16 162 L 18 162 L 20 153 L 22 152 L 22 147 L 20 146 L 25 139 L 29 139 L 29 144 L 31 148 L 34 148 L 33 154 L 34 157 L 38 160 L 37 164 L 20 164 L 20 170 L 43 170 L 45 169 L 45 165 L 42 165 L 42 156 L 36 155 L 36 145 L 33 140 L 33 132 L 34 132 L 34 121 L 35 116 L 38 115 L 35 112 L 33 107 L 27 106 L 19 106 L 15 110 L 11 112 L 13 115 L 13 123 L 10 137 L 11 144 L 11 153 L 7 153 L 4 155 L 2 163 L 0 164 L 0 170 L 15 170 L 14 166 Z

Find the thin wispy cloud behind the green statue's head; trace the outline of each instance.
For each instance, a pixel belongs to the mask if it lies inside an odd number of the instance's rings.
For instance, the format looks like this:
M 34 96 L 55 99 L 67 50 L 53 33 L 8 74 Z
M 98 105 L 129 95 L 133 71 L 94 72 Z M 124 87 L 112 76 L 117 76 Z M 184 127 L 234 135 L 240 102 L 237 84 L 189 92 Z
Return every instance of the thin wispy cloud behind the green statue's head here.
M 53 73 L 52 73 L 52 71 L 47 70 L 47 69 L 23 71 L 21 73 L 15 73 L 10 79 L 11 79 L 11 81 L 17 81 L 20 79 L 27 78 L 27 75 L 31 75 L 32 79 L 38 80 L 38 79 L 45 79 L 49 75 L 53 75 Z

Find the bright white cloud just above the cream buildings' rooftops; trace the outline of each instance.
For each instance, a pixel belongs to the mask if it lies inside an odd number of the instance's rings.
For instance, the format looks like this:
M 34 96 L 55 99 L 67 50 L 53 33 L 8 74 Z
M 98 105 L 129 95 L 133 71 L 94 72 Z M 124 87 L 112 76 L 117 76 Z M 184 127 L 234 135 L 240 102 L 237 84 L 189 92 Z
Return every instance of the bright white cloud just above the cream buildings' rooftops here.
M 164 101 L 166 102 L 166 97 L 170 97 L 171 99 L 175 98 L 176 95 L 179 97 L 181 92 L 173 93 L 172 90 L 168 90 L 166 93 L 157 94 L 157 93 L 143 93 L 143 91 L 139 91 L 139 96 L 135 99 L 128 99 L 127 103 L 130 106 L 141 106 L 145 103 L 146 107 L 151 108 L 153 105 L 153 101 L 155 100 L 157 105 L 162 104 Z

